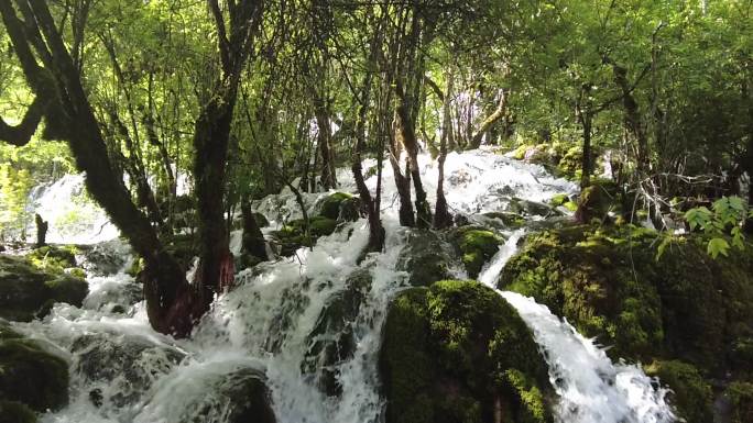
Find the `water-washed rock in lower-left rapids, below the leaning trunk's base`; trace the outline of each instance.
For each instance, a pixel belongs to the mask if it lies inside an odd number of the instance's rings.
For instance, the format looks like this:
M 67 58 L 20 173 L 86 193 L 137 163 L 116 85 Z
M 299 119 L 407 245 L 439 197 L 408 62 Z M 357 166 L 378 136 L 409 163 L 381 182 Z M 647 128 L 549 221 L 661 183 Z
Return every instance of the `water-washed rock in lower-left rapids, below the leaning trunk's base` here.
M 138 402 L 154 380 L 166 375 L 184 353 L 150 339 L 122 334 L 86 334 L 74 341 L 74 369 L 95 404 L 116 408 Z

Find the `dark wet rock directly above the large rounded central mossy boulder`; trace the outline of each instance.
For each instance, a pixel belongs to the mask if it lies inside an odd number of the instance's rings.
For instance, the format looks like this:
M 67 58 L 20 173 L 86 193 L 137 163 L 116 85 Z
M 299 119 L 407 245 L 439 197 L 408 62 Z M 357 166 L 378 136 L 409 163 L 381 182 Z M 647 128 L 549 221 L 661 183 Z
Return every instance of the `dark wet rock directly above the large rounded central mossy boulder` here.
M 397 260 L 397 269 L 410 275 L 411 286 L 429 286 L 437 280 L 452 278 L 451 269 L 457 267 L 452 253 L 452 245 L 444 240 L 441 233 L 412 230 Z

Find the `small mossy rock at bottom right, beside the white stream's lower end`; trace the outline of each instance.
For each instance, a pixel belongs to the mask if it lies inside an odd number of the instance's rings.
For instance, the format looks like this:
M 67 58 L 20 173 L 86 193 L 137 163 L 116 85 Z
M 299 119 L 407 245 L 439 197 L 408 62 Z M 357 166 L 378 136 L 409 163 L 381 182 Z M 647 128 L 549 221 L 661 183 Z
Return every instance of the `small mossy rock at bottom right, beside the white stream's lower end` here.
M 692 365 L 678 360 L 654 361 L 645 371 L 672 389 L 670 402 L 679 416 L 688 422 L 712 421 L 711 386 Z

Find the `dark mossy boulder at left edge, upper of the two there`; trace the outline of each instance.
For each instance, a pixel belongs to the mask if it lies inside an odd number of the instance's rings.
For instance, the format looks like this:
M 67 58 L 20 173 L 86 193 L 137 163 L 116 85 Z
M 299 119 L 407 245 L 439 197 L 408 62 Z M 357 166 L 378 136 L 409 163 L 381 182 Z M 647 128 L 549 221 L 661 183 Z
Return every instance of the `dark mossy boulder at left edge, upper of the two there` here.
M 46 314 L 54 302 L 81 305 L 86 280 L 46 272 L 22 257 L 0 255 L 0 318 L 28 322 Z

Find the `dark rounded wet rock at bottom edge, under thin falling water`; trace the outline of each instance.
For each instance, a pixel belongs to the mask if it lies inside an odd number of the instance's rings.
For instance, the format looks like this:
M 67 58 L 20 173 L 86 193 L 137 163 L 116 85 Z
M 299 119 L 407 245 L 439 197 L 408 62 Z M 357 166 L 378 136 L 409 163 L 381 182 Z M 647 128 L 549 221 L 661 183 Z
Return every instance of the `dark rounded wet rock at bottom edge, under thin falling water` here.
M 263 372 L 248 367 L 218 375 L 207 394 L 186 407 L 174 422 L 275 423 L 265 381 Z

